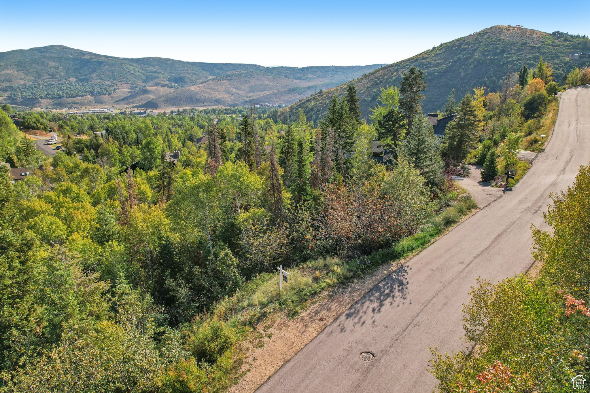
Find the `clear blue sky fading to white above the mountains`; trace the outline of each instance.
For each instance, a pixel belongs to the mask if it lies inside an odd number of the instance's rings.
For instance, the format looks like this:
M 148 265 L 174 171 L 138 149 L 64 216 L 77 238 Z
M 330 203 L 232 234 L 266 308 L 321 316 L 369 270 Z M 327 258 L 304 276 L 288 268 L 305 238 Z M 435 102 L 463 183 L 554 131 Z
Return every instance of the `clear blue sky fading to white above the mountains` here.
M 590 35 L 588 1 L 1 4 L 0 52 L 59 44 L 120 57 L 304 67 L 391 63 L 497 24 Z

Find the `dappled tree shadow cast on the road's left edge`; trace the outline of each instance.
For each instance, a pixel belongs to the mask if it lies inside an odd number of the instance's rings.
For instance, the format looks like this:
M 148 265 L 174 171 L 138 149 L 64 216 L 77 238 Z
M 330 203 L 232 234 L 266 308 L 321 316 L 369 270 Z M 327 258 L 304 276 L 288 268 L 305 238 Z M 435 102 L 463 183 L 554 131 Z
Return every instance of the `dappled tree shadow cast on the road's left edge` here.
M 353 325 L 375 323 L 375 316 L 381 313 L 383 306 L 397 304 L 399 307 L 404 304 L 408 297 L 408 271 L 407 265 L 399 267 L 350 306 L 337 320 L 340 332 L 346 331 L 351 319 Z

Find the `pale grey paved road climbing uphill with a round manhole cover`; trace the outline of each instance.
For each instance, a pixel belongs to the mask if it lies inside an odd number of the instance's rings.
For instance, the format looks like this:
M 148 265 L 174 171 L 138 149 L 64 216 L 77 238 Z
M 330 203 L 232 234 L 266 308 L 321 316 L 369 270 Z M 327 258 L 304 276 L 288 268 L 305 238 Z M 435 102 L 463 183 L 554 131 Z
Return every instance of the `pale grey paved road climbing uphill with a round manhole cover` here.
M 545 227 L 549 193 L 590 161 L 590 87 L 566 91 L 555 132 L 529 173 L 383 279 L 293 356 L 260 392 L 430 392 L 428 346 L 464 348 L 462 305 L 478 277 L 495 281 L 532 264 L 530 224 Z M 365 362 L 360 352 L 375 359 Z

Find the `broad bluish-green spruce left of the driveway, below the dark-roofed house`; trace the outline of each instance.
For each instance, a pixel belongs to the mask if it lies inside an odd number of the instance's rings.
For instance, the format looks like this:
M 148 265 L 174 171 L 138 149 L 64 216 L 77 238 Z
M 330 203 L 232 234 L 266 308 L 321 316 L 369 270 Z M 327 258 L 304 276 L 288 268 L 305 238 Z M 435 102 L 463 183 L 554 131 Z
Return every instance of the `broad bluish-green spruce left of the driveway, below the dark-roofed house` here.
M 417 118 L 406 134 L 401 146 L 402 155 L 412 164 L 432 187 L 440 187 L 442 158 L 438 153 L 438 137 L 426 118 Z

